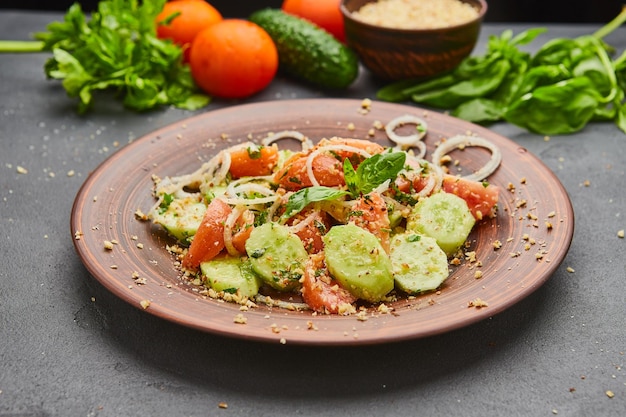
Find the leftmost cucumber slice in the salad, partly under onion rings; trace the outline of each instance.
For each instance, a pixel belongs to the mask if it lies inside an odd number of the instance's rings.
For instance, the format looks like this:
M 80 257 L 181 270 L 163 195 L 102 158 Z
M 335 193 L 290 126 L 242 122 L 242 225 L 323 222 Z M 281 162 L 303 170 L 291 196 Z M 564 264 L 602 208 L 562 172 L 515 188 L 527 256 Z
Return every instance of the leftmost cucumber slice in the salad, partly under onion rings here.
M 181 243 L 188 245 L 202 222 L 206 205 L 197 198 L 185 197 L 173 200 L 167 209 L 154 215 L 159 224 Z

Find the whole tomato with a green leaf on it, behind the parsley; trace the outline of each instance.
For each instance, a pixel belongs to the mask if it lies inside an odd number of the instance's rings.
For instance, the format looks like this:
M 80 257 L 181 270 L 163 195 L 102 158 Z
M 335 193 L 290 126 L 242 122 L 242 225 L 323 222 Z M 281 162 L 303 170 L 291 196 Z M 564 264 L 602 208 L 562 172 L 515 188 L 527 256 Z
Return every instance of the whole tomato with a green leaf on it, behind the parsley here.
M 180 14 L 166 23 L 175 13 Z M 198 33 L 222 20 L 221 13 L 204 0 L 170 1 L 156 17 L 157 36 L 183 47 L 188 62 L 191 43 Z

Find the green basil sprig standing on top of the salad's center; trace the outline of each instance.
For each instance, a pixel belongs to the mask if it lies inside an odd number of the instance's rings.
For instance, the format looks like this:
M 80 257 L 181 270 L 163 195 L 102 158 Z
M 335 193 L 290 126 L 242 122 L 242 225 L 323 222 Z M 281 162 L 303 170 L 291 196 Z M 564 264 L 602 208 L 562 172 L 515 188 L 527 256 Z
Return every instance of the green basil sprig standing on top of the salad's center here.
M 367 194 L 387 180 L 392 180 L 404 167 L 404 152 L 385 152 L 373 155 L 355 170 L 352 163 L 343 161 L 343 175 L 353 197 Z

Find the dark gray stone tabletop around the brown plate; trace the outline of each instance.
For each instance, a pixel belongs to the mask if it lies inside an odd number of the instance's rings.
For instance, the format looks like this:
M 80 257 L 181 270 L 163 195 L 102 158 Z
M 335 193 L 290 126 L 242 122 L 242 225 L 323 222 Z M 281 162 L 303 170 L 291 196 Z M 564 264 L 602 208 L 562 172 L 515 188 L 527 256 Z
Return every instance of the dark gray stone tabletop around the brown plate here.
M 60 17 L 2 12 L 0 38 L 27 39 Z M 477 50 L 504 28 L 486 25 Z M 540 41 L 595 29 L 549 28 Z M 608 40 L 623 50 L 626 29 Z M 522 302 L 422 340 L 274 346 L 162 321 L 89 276 L 69 230 L 81 183 L 129 140 L 193 113 L 135 114 L 105 99 L 78 116 L 45 79 L 45 60 L 0 55 L 0 416 L 625 414 L 626 241 L 617 231 L 626 228 L 626 135 L 615 126 L 549 141 L 493 127 L 556 173 L 576 215 L 564 263 Z M 362 72 L 333 95 L 372 97 L 376 88 Z M 333 95 L 277 79 L 246 102 Z

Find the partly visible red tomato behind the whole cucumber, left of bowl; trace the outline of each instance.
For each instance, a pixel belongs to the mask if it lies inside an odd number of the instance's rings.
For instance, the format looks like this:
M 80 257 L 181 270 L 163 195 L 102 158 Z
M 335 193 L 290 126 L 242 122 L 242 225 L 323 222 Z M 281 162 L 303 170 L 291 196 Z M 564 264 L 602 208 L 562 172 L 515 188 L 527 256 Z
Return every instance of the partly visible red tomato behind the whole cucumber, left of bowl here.
M 310 22 L 329 32 L 337 40 L 346 40 L 343 15 L 339 10 L 341 0 L 285 0 L 281 6 L 289 13 Z

